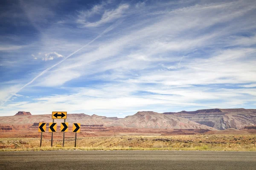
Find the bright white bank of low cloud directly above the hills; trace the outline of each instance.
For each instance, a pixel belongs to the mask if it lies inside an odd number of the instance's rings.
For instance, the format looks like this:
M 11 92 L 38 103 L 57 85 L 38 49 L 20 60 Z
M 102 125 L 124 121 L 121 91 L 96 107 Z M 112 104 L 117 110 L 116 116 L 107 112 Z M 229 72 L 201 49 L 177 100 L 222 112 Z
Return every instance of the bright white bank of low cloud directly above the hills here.
M 157 112 L 170 111 L 171 108 L 230 108 L 253 102 L 256 92 L 248 89 L 214 89 L 208 87 L 169 87 L 165 85 L 147 86 L 128 84 L 98 85 L 90 88 L 70 88 L 70 94 L 51 95 L 35 98 L 32 102 L 17 102 L 6 105 L 3 109 L 26 109 L 33 114 L 45 114 L 52 110 L 64 109 L 69 113 L 96 113 L 115 116 L 134 114 L 140 110 Z M 134 94 L 147 91 L 148 94 Z M 248 94 L 253 95 L 248 98 Z M 247 98 L 244 100 L 244 98 Z M 212 102 L 206 102 L 211 100 Z M 200 102 L 199 102 L 200 101 Z M 201 103 L 203 102 L 203 103 Z M 166 109 L 166 110 L 165 110 Z M 1 113 L 1 112 L 0 112 Z

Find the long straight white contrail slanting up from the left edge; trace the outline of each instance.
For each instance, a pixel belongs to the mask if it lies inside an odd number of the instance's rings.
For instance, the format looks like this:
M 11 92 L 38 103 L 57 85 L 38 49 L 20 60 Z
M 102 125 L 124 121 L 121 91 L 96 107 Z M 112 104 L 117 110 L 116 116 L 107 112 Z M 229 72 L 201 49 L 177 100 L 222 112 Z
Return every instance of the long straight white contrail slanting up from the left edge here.
M 106 28 L 101 34 L 99 34 L 97 37 L 95 37 L 93 40 L 91 40 L 90 42 L 88 42 L 87 44 L 85 44 L 84 46 L 82 46 L 81 48 L 79 48 L 78 50 L 76 50 L 75 52 L 73 52 L 72 54 L 68 55 L 67 57 L 65 57 L 64 59 L 62 59 L 60 62 L 56 63 L 55 65 L 52 65 L 51 67 L 45 69 L 44 71 L 42 71 L 40 74 L 38 74 L 34 79 L 32 79 L 30 82 L 26 83 L 26 85 L 23 85 L 23 87 L 21 87 L 19 90 L 17 90 L 14 94 L 11 94 L 3 103 L 1 106 L 3 106 L 3 104 L 8 101 L 12 96 L 16 95 L 19 91 L 21 91 L 23 88 L 25 88 L 26 86 L 30 85 L 32 82 L 34 82 L 36 79 L 38 79 L 38 77 L 41 77 L 42 75 L 44 75 L 45 73 L 47 73 L 47 71 L 51 70 L 52 68 L 54 68 L 56 65 L 59 65 L 61 62 L 64 62 L 67 58 L 69 58 L 70 56 L 72 56 L 73 54 L 76 54 L 78 51 L 80 51 L 81 49 L 83 49 L 84 47 L 86 47 L 87 45 L 91 44 L 92 42 L 94 42 L 95 40 L 97 40 L 99 37 L 102 37 L 102 35 L 108 33 L 109 31 L 111 31 L 113 28 L 116 28 L 116 26 L 118 26 L 120 23 L 122 23 L 123 20 L 118 20 L 116 21 L 115 24 L 109 26 L 108 28 Z

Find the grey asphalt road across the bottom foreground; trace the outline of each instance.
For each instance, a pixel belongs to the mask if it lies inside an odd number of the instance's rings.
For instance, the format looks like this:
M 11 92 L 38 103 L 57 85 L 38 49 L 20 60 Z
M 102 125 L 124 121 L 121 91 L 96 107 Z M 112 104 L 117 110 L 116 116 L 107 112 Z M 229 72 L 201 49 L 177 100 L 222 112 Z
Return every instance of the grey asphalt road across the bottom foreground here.
M 0 170 L 256 170 L 256 152 L 1 152 Z

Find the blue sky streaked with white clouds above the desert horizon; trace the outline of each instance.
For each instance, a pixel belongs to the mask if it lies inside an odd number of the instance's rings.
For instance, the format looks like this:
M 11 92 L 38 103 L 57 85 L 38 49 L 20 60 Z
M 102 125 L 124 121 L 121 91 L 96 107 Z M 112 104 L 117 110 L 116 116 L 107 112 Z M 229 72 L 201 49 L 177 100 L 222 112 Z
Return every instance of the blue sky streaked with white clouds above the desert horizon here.
M 0 116 L 256 108 L 255 0 L 1 0 Z

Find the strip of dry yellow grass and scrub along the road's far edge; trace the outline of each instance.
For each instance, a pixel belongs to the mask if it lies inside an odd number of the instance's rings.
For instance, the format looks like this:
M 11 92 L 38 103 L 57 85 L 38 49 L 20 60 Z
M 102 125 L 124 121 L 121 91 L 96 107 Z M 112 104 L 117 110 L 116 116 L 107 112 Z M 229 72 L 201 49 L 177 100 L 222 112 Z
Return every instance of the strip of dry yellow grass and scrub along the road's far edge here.
M 1 138 L 0 151 L 21 150 L 218 150 L 218 151 L 256 151 L 256 135 L 184 135 L 184 136 L 116 136 L 43 139 L 40 148 L 39 138 Z

